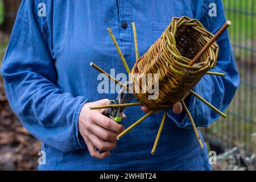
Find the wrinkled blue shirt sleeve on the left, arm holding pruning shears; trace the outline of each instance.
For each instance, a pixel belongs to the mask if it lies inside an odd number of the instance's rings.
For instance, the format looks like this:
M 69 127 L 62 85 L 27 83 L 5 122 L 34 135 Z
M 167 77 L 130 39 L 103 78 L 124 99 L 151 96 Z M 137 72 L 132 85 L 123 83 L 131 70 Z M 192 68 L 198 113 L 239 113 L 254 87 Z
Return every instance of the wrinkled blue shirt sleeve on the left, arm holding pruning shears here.
M 85 147 L 78 119 L 86 102 L 56 86 L 47 19 L 38 3 L 22 1 L 1 73 L 11 108 L 23 126 L 43 143 L 63 152 Z

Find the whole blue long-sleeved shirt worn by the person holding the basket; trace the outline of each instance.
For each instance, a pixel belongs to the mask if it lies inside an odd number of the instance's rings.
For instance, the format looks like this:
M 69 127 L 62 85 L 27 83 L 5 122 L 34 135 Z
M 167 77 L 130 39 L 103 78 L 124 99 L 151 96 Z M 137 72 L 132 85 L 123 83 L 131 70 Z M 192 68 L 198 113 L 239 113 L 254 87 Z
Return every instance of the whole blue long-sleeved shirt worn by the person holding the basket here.
M 210 2 L 217 5 L 217 17 L 208 15 Z M 42 12 L 38 15 L 43 7 L 39 3 L 46 5 L 46 16 Z M 39 169 L 211 169 L 207 147 L 201 150 L 184 112 L 175 115 L 170 109 L 155 155 L 150 151 L 163 113 L 151 115 L 127 133 L 104 160 L 90 156 L 77 127 L 85 102 L 117 96 L 97 92 L 98 71 L 90 67 L 90 62 L 106 72 L 115 68 L 116 74 L 126 73 L 106 29 L 112 28 L 132 68 L 135 50 L 131 22 L 136 24 L 142 56 L 172 17 L 183 15 L 199 19 L 213 34 L 225 23 L 221 1 L 22 1 L 1 73 L 12 109 L 23 126 L 43 143 L 46 164 Z M 128 24 L 126 29 L 122 22 Z M 224 111 L 239 77 L 227 31 L 217 43 L 220 54 L 211 71 L 226 76 L 205 75 L 194 90 Z M 219 117 L 194 96 L 189 97 L 187 105 L 197 126 L 208 126 Z M 125 127 L 144 115 L 139 106 L 125 112 Z

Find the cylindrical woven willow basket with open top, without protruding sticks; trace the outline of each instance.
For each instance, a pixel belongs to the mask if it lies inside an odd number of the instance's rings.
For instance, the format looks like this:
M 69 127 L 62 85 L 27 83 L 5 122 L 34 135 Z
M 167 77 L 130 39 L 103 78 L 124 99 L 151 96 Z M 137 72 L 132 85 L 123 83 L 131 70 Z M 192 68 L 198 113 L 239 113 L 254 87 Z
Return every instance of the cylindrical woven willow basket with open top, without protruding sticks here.
M 205 30 L 204 26 L 196 19 L 187 16 L 173 18 L 172 22 L 164 30 L 162 36 L 148 49 L 146 53 L 135 63 L 131 73 L 152 73 L 147 88 L 154 88 L 154 80 L 159 78 L 159 96 L 154 100 L 148 100 L 146 93 L 142 93 L 142 80 L 140 77 L 130 74 L 130 81 L 134 84 L 134 96 L 143 105 L 151 109 L 168 109 L 191 90 L 209 71 L 216 65 L 218 45 L 216 42 L 207 49 L 200 59 L 189 65 L 192 59 L 199 53 L 213 35 Z M 158 73 L 158 74 L 154 74 Z

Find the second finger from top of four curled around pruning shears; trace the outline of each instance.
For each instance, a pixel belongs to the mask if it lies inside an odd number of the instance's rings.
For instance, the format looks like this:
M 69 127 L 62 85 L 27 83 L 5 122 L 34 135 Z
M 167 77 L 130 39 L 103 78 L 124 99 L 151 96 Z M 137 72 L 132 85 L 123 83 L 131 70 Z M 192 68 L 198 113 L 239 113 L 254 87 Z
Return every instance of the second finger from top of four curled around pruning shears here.
M 117 133 L 115 133 L 114 131 L 107 130 L 104 127 L 96 125 L 95 123 L 90 124 L 86 128 L 86 130 L 89 130 L 91 133 L 93 133 L 97 137 L 100 137 L 101 139 L 104 139 L 104 140 L 108 140 L 108 141 L 117 140 Z

